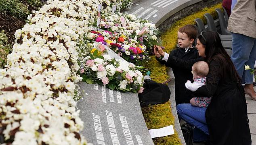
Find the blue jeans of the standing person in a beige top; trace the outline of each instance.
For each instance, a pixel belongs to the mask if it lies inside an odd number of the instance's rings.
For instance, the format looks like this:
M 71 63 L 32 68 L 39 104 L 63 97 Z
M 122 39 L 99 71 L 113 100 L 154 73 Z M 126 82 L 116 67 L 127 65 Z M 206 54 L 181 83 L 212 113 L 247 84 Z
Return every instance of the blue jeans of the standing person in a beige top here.
M 256 39 L 238 33 L 232 33 L 232 55 L 231 60 L 242 78 L 243 84 L 252 84 L 253 75 L 250 70 L 245 70 L 244 66 L 249 65 L 254 68 L 256 60 Z

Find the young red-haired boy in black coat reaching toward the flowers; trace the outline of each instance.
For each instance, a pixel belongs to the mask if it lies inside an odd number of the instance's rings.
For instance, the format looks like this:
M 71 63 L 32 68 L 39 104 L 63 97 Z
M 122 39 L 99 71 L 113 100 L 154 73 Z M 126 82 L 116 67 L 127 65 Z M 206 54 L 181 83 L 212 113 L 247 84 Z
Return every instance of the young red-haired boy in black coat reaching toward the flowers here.
M 154 47 L 157 61 L 172 68 L 175 77 L 176 105 L 189 103 L 193 97 L 193 92 L 187 90 L 184 84 L 187 80 L 192 81 L 192 65 L 199 60 L 204 60 L 198 56 L 198 51 L 192 46 L 196 37 L 197 29 L 193 25 L 185 25 L 178 30 L 178 47 L 170 54 L 164 52 L 159 46 Z

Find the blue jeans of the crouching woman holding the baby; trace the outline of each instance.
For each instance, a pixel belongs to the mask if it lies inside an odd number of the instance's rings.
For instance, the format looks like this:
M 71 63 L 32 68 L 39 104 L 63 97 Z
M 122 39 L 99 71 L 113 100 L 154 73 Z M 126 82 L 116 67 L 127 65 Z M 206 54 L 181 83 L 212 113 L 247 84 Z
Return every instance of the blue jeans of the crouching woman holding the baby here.
M 209 135 L 205 117 L 206 108 L 195 107 L 191 104 L 178 104 L 176 109 L 178 117 L 196 127 L 193 131 L 193 141 L 206 141 Z

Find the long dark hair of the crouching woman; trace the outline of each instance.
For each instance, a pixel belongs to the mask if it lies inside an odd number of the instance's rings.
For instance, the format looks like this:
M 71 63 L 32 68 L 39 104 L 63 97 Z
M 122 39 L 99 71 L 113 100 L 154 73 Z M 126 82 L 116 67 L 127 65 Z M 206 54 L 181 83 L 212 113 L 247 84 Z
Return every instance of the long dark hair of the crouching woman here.
M 204 35 L 204 37 L 202 37 Z M 235 70 L 235 66 L 227 54 L 226 50 L 223 48 L 220 40 L 220 36 L 215 31 L 206 31 L 202 35 L 198 36 L 199 41 L 205 46 L 206 62 L 210 64 L 212 60 L 216 60 L 220 64 L 220 74 L 222 78 L 234 76 L 235 81 L 241 83 L 241 78 Z M 205 41 L 206 39 L 206 41 Z

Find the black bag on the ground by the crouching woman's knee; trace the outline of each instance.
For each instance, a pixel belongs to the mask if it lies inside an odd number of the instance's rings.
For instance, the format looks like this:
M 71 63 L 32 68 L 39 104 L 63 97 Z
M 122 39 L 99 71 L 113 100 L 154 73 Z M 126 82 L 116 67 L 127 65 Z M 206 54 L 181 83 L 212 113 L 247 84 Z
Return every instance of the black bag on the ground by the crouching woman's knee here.
M 187 145 L 193 145 L 193 126 L 184 123 L 180 126 L 184 140 Z

